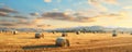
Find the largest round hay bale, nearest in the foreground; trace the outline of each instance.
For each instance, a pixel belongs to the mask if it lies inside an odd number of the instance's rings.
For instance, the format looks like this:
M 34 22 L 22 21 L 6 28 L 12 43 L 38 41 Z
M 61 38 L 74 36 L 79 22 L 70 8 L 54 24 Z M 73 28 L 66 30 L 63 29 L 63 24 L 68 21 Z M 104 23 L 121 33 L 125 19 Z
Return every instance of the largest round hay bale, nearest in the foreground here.
M 58 37 L 56 39 L 56 46 L 57 47 L 69 47 L 69 40 L 66 39 L 65 37 Z

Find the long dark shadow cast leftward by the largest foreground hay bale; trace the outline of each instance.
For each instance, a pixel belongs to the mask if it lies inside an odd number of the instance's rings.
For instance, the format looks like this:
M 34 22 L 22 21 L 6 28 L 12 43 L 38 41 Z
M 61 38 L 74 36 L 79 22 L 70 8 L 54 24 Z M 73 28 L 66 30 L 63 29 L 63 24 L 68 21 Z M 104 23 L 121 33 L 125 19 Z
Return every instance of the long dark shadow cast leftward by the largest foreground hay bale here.
M 58 48 L 55 44 L 47 44 L 47 46 L 30 46 L 30 47 L 23 47 L 22 49 L 24 50 L 30 50 L 30 49 L 43 49 L 43 48 Z

